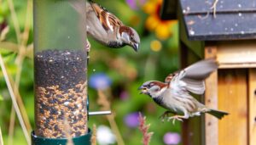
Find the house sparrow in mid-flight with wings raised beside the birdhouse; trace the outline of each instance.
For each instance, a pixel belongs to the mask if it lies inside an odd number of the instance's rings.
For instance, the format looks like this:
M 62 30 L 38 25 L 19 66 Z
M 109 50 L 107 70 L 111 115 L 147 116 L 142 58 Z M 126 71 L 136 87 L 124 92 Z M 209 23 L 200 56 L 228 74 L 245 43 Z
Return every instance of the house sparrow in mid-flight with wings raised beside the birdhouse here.
M 218 64 L 214 59 L 201 60 L 184 70 L 168 75 L 166 82 L 147 81 L 139 87 L 139 90 L 168 110 L 160 116 L 162 120 L 170 113 L 175 114 L 168 117 L 172 123 L 175 120 L 182 121 L 201 113 L 212 114 L 220 120 L 228 113 L 209 109 L 191 95 L 191 93 L 202 95 L 205 92 L 204 80 L 217 69 Z

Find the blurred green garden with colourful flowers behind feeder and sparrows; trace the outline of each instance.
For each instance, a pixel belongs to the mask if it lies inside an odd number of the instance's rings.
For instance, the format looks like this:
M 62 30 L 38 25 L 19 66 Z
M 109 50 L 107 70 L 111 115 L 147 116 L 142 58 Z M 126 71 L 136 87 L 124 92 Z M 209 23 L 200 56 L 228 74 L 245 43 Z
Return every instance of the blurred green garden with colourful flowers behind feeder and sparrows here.
M 97 90 L 101 90 L 108 97 L 117 124 L 114 127 L 106 116 L 90 117 L 90 128 L 93 125 L 97 128 L 98 144 L 116 144 L 119 139 L 125 144 L 141 144 L 139 112 L 147 117 L 149 131 L 154 132 L 150 144 L 180 144 L 180 124 L 162 123 L 159 116 L 165 109 L 137 90 L 144 81 L 164 81 L 166 75 L 179 68 L 177 21 L 160 20 L 161 0 L 96 0 L 96 3 L 141 36 L 138 53 L 128 47 L 110 49 L 89 38 L 90 110 L 106 109 L 98 99 Z M 15 94 L 29 131 L 34 128 L 32 44 L 32 0 L 0 0 L 0 53 L 14 88 L 18 88 Z M 5 144 L 26 144 L 3 70 L 0 71 L 0 126 Z M 121 138 L 111 136 L 109 131 L 119 131 Z M 110 140 L 101 138 L 101 134 L 109 135 Z

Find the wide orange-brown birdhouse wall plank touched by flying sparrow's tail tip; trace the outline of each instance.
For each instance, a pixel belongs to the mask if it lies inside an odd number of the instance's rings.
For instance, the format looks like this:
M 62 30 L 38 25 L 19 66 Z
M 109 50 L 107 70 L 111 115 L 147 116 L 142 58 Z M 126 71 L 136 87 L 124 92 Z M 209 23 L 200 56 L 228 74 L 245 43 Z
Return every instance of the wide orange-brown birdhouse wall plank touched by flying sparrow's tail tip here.
M 247 145 L 247 70 L 218 70 L 218 145 Z

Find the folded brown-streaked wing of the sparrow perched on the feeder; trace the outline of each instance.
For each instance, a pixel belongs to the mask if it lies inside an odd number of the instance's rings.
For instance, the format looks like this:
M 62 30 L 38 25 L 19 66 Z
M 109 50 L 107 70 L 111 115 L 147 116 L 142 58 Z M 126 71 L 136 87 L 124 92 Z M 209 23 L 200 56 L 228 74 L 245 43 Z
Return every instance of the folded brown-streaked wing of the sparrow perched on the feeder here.
M 115 15 L 109 13 L 106 8 L 93 2 L 90 2 L 90 6 L 93 8 L 97 18 L 106 31 L 113 31 L 114 27 L 123 25 L 123 23 Z

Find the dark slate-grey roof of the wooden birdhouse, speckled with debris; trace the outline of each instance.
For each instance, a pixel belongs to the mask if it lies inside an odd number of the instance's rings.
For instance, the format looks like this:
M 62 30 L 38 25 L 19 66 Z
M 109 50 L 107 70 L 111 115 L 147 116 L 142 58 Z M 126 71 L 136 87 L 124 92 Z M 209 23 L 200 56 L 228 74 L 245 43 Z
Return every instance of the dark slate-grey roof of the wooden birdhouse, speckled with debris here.
M 178 3 L 189 40 L 256 38 L 256 0 L 179 0 Z M 213 3 L 216 3 L 215 16 Z

